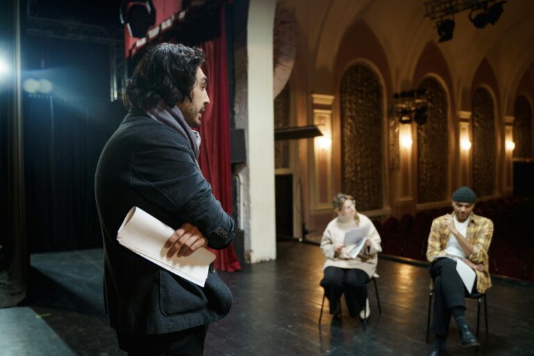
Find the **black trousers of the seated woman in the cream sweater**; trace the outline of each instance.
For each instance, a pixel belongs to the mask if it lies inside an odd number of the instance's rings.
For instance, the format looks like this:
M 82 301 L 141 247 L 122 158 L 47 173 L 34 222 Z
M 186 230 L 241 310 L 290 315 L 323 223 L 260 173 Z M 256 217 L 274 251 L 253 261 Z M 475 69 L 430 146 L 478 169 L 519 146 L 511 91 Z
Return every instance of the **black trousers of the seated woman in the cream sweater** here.
M 365 307 L 367 283 L 369 275 L 363 270 L 332 266 L 325 268 L 321 286 L 325 289 L 326 298 L 330 302 L 330 313 L 333 314 L 337 310 L 337 304 L 344 292 L 348 314 L 356 316 Z

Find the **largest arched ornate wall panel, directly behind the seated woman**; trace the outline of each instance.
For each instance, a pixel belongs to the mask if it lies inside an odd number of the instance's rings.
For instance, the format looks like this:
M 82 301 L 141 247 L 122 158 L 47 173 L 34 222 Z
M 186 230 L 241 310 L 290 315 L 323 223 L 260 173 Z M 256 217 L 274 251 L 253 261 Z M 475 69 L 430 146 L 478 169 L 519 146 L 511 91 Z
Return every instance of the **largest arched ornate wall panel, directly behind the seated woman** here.
M 365 65 L 341 79 L 341 189 L 360 211 L 382 208 L 382 88 Z

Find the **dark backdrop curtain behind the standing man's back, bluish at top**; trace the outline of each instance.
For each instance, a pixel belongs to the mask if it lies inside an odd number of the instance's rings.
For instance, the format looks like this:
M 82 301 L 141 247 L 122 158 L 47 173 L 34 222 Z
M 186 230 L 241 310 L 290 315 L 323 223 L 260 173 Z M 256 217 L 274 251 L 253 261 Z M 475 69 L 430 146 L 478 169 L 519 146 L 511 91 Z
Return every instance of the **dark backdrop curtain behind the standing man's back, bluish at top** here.
M 120 104 L 120 103 L 118 103 Z M 102 247 L 95 168 L 115 121 L 91 99 L 24 96 L 26 229 L 30 252 Z M 113 110 L 106 107 L 106 115 Z M 113 116 L 112 116 L 113 117 Z

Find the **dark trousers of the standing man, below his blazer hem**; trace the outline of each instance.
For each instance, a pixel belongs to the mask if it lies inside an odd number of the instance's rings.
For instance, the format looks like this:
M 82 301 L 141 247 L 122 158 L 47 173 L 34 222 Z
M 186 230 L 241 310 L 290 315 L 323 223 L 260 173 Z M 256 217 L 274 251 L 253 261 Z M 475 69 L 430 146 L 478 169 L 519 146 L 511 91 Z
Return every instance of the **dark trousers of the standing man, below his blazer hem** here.
M 204 339 L 208 325 L 170 334 L 117 333 L 119 348 L 130 356 L 200 356 L 204 353 Z

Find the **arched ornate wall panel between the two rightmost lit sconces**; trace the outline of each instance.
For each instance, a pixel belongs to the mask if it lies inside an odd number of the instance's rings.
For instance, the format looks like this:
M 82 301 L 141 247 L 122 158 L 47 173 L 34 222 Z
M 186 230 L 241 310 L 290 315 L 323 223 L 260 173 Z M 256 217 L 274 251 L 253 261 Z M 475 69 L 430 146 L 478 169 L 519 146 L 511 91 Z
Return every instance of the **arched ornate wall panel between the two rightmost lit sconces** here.
M 473 96 L 473 188 L 481 197 L 495 192 L 495 114 L 492 95 L 478 88 Z

